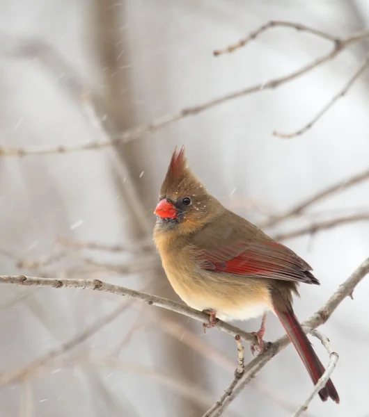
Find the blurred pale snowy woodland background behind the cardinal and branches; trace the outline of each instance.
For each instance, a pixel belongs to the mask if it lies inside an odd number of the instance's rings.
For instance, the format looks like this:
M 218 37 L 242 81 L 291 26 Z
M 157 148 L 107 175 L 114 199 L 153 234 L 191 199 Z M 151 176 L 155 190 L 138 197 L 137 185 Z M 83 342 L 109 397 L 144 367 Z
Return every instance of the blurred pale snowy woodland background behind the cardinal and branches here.
M 234 54 L 213 56 L 270 19 L 344 38 L 368 28 L 369 4 L 3 0 L 1 148 L 109 142 L 158 117 L 294 72 L 332 48 L 304 31 L 274 28 Z M 212 194 L 313 266 L 321 286 L 302 286 L 295 302 L 305 320 L 369 255 L 369 181 L 298 215 L 274 216 L 368 170 L 369 72 L 303 135 L 288 140 L 272 133 L 310 122 L 366 53 L 366 42 L 359 42 L 281 88 L 227 101 L 127 143 L 1 157 L 1 274 L 98 278 L 178 300 L 152 247 L 152 211 L 171 153 L 184 144 Z M 336 227 L 301 233 L 336 219 Z M 366 279 L 354 301 L 344 300 L 322 327 L 340 354 L 333 380 L 341 404 L 315 398 L 304 415 L 369 416 L 368 295 Z M 2 375 L 74 341 L 1 387 L 4 417 L 201 417 L 233 378 L 232 337 L 204 335 L 198 322 L 118 296 L 1 286 L 0 312 Z M 260 319 L 235 325 L 256 331 Z M 265 339 L 282 334 L 269 315 Z M 313 343 L 327 363 L 327 352 Z M 288 346 L 224 416 L 289 416 L 311 388 Z

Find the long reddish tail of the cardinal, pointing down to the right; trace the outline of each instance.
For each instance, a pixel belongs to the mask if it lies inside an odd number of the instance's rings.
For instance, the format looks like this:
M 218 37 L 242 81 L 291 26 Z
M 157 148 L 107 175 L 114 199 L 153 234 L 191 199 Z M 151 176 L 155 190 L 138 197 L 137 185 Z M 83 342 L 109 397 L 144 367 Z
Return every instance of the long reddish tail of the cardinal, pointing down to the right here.
M 290 309 L 286 309 L 285 311 L 274 309 L 274 312 L 285 328 L 285 332 L 287 332 L 290 341 L 295 346 L 297 353 L 304 362 L 313 384 L 315 385 L 318 379 L 320 379 L 323 375 L 325 369 L 322 362 L 317 357 L 317 354 L 313 350 L 313 346 L 304 333 L 304 330 L 299 324 L 292 307 L 290 307 Z M 340 398 L 338 397 L 338 393 L 333 385 L 333 382 L 331 382 L 331 379 L 329 379 L 326 386 L 319 391 L 319 396 L 322 401 L 327 401 L 330 397 L 333 401 L 336 401 L 337 404 L 340 402 Z

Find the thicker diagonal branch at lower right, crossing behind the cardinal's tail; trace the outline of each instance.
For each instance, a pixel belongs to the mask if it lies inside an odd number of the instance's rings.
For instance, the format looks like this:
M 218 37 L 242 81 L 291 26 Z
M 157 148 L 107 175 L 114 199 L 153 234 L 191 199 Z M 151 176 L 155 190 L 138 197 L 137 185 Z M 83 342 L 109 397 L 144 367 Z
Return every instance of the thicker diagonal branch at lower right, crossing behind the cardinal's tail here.
M 315 313 L 311 318 L 306 320 L 306 322 L 302 323 L 304 328 L 304 332 L 309 333 L 311 330 L 315 329 L 316 327 L 324 324 L 333 311 L 336 310 L 338 305 L 347 297 L 352 297 L 352 293 L 354 288 L 356 287 L 359 282 L 369 274 L 369 258 L 363 261 L 359 268 L 357 268 L 349 278 L 346 279 L 343 284 L 338 287 L 338 290 L 329 297 L 329 300 Z M 224 400 L 223 404 L 215 411 L 215 413 L 211 414 L 211 417 L 219 417 L 223 414 L 226 407 L 240 394 L 240 392 L 244 389 L 244 387 L 249 384 L 251 379 L 255 377 L 259 370 L 265 366 L 272 357 L 274 357 L 278 352 L 281 352 L 284 347 L 286 347 L 290 343 L 288 336 L 282 336 L 278 338 L 278 340 L 262 354 L 258 355 L 255 359 L 249 362 L 245 366 L 244 375 L 240 379 L 240 382 L 235 386 L 233 392 L 227 396 Z M 210 417 L 209 416 L 209 417 Z

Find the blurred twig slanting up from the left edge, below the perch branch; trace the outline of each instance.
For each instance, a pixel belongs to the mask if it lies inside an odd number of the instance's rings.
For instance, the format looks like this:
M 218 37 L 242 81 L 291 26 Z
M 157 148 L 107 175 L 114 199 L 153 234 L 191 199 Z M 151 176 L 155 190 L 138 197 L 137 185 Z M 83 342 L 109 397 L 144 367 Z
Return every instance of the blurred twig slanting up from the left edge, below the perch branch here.
M 93 336 L 93 334 L 99 332 L 100 329 L 102 329 L 102 327 L 116 319 L 120 315 L 120 313 L 123 313 L 123 311 L 125 311 L 125 309 L 127 309 L 127 303 L 121 304 L 120 306 L 118 306 L 118 308 L 114 309 L 113 311 L 111 311 L 111 313 L 107 314 L 107 316 L 104 316 L 96 320 L 93 323 L 93 325 L 87 327 L 87 329 L 84 330 L 84 332 L 81 332 L 77 336 L 72 337 L 68 342 L 63 343 L 61 347 L 57 347 L 56 349 L 50 350 L 44 356 L 24 366 L 24 368 L 17 369 L 10 373 L 2 373 L 0 375 L 0 386 L 5 386 L 7 384 L 10 384 L 10 382 L 15 382 L 19 379 L 26 378 L 30 373 L 33 373 L 41 366 L 44 366 L 45 363 L 52 361 L 56 357 L 61 356 L 61 354 L 64 354 L 65 352 L 74 349 L 74 347 L 77 347 L 77 345 L 86 341 L 88 338 Z

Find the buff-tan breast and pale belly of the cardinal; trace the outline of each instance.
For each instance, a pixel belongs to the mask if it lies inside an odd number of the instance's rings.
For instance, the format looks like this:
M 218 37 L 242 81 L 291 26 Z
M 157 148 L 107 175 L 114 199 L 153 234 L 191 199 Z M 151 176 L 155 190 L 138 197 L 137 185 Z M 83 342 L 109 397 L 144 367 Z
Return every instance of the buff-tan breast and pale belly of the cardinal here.
M 270 309 L 269 280 L 203 270 L 190 245 L 155 238 L 175 293 L 196 310 L 217 311 L 221 320 L 247 320 Z

